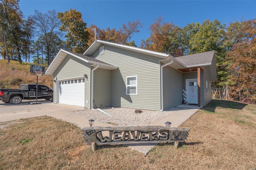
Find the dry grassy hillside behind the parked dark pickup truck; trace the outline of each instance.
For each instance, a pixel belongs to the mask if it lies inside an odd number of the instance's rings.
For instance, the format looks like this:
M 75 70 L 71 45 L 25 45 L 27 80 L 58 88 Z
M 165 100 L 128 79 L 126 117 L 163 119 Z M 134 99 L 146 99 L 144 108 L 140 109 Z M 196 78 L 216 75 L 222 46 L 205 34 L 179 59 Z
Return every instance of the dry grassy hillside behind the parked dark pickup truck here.
M 20 84 L 36 84 L 36 73 L 30 73 L 31 63 L 0 59 L 0 89 L 17 89 Z M 38 84 L 53 87 L 50 75 L 38 76 Z

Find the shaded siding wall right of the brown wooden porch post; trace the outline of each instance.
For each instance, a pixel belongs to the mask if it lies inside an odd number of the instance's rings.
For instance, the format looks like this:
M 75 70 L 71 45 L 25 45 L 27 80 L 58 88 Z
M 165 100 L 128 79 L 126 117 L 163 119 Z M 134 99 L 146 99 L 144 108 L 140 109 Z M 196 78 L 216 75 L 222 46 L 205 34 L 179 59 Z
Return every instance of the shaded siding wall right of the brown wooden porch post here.
M 211 79 L 211 72 L 210 72 L 210 67 L 206 66 L 206 67 L 202 67 L 202 69 L 204 70 L 204 103 L 202 103 L 203 105 L 206 105 L 207 103 L 209 103 L 210 101 L 212 101 L 212 92 L 209 91 L 210 86 L 209 83 L 212 85 L 212 79 Z M 208 93 L 206 94 L 206 81 L 208 83 Z

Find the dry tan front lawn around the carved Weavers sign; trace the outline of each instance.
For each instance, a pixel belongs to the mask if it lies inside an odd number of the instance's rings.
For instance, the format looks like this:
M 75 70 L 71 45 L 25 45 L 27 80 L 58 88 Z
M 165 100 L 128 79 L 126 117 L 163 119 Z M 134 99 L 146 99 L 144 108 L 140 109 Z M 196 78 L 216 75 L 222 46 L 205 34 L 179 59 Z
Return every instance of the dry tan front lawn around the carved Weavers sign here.
M 181 127 L 178 149 L 161 143 L 145 156 L 121 145 L 92 152 L 80 128 L 52 117 L 22 119 L 0 130 L 0 169 L 256 170 L 256 105 L 218 101 Z

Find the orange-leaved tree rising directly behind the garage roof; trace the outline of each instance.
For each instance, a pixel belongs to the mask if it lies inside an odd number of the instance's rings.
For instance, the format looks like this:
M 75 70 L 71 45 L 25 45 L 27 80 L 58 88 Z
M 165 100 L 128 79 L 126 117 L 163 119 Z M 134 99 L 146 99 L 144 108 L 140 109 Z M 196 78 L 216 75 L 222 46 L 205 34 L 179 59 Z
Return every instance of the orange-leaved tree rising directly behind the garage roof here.
M 60 31 L 67 32 L 65 37 L 66 47 L 70 51 L 76 53 L 83 53 L 88 47 L 88 36 L 86 23 L 83 22 L 82 14 L 79 11 L 72 10 L 65 11 L 64 13 L 58 12 L 58 18 L 62 23 Z

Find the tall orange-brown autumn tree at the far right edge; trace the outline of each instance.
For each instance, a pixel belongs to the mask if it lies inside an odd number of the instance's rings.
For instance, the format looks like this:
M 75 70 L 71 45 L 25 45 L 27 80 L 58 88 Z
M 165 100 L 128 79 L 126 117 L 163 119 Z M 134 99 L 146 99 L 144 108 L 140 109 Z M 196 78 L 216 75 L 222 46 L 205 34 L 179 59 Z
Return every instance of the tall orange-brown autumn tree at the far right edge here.
M 232 97 L 256 101 L 256 19 L 234 22 L 227 29 Z

